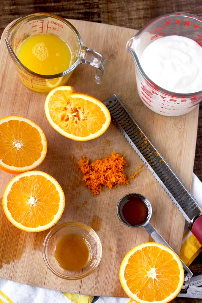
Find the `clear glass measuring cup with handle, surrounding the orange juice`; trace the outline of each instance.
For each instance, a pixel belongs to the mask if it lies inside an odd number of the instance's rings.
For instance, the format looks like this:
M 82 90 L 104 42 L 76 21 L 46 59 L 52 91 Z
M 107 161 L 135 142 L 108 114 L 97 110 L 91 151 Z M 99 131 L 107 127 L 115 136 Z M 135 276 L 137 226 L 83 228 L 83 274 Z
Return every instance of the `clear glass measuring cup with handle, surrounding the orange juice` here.
M 16 53 L 19 45 L 30 35 L 53 34 L 65 41 L 71 51 L 71 66 L 55 75 L 37 74 L 20 62 Z M 22 83 L 36 91 L 49 92 L 58 85 L 65 85 L 73 70 L 80 64 L 89 64 L 97 68 L 95 81 L 101 83 L 106 64 L 105 58 L 91 48 L 85 47 L 76 28 L 64 18 L 48 13 L 35 13 L 18 19 L 5 34 L 8 52 L 15 63 Z

